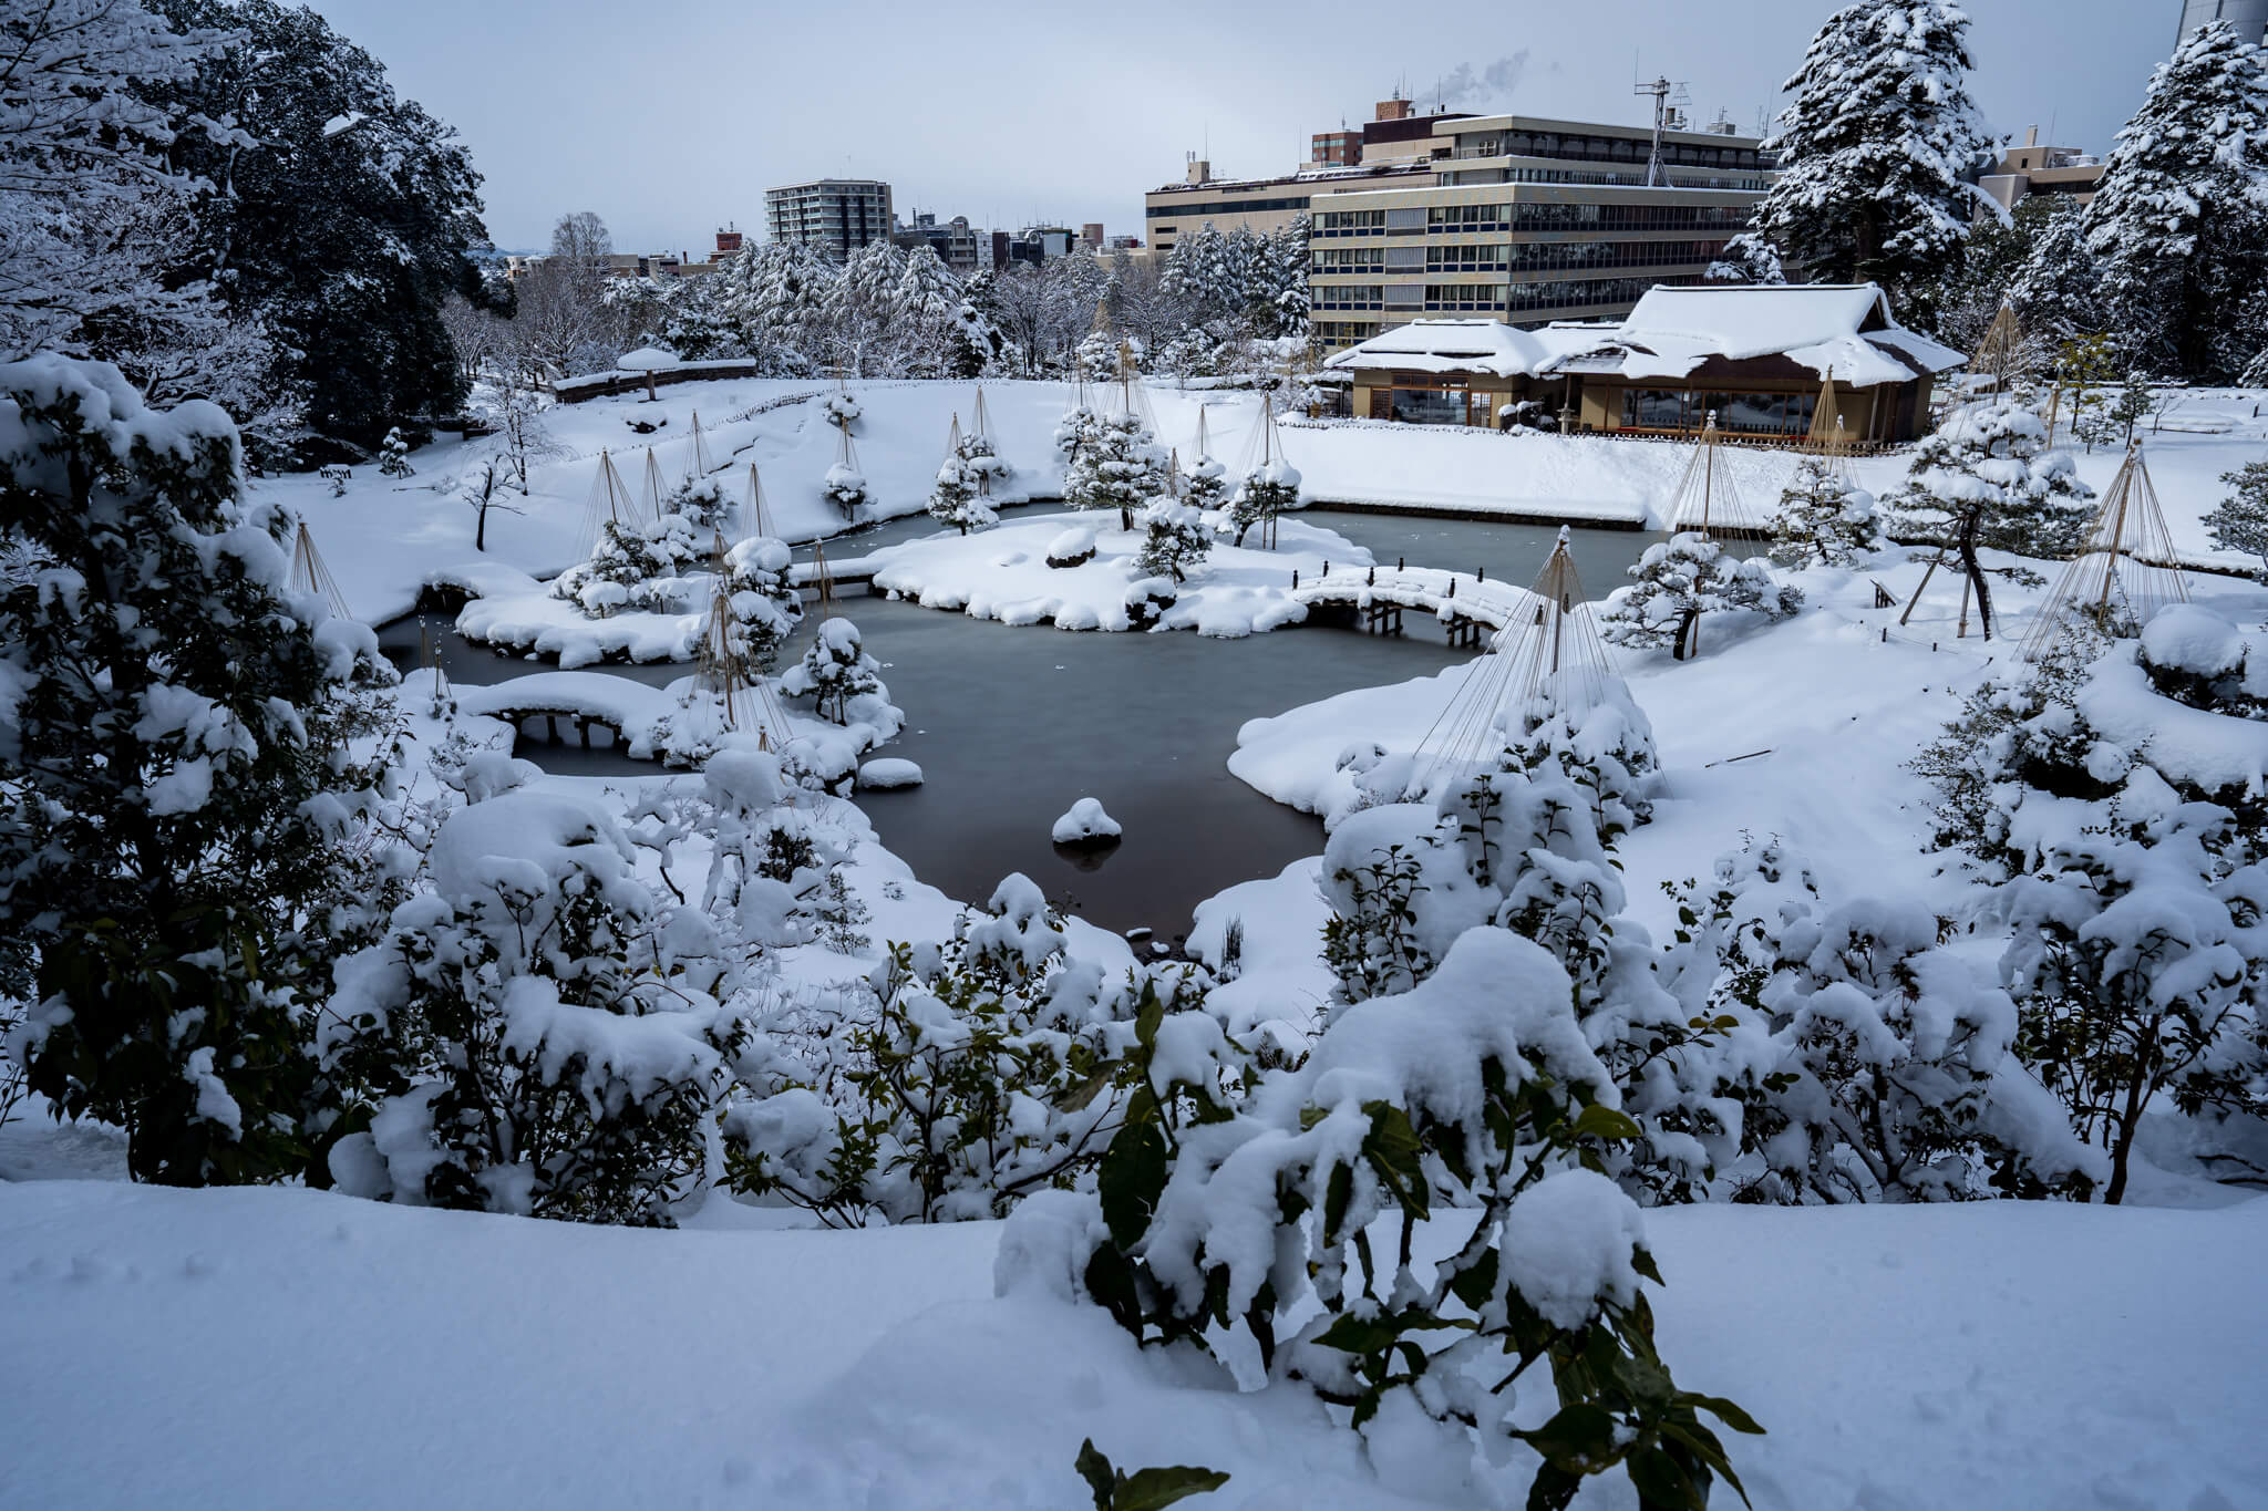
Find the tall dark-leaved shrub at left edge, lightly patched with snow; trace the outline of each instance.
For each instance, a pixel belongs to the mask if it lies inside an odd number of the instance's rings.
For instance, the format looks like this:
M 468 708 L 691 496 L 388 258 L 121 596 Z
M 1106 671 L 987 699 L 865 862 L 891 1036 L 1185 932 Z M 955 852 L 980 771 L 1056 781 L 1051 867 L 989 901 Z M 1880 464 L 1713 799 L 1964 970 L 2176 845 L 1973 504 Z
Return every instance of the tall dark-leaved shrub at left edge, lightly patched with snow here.
M 211 403 L 0 365 L 0 938 L 34 956 L 7 1051 L 168 1185 L 308 1167 L 347 1099 L 315 1004 L 399 886 L 392 668 L 290 589 L 297 523 L 238 462 Z

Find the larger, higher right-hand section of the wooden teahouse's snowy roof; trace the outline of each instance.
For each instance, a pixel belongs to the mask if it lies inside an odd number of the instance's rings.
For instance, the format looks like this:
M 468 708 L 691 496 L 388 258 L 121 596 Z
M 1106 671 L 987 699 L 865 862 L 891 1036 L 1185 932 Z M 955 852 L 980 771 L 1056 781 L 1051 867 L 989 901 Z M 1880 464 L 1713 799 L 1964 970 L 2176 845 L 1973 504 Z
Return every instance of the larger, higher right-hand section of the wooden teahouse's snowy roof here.
M 1656 285 L 1615 333 L 1631 378 L 1683 378 L 1710 358 L 1783 356 L 1857 387 L 1905 383 L 1966 358 L 1903 331 L 1873 283 Z

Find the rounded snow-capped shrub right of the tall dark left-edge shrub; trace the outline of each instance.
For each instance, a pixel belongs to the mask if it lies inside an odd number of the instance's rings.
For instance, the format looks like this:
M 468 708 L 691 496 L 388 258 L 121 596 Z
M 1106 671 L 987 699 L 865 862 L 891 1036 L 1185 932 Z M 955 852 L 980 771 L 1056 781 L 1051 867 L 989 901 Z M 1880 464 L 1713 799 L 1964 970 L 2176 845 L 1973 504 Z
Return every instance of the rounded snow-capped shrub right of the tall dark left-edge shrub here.
M 442 825 L 433 893 L 340 963 L 324 1065 L 390 1094 L 331 1155 L 408 1205 L 671 1226 L 746 1040 L 717 933 L 599 806 L 515 791 Z

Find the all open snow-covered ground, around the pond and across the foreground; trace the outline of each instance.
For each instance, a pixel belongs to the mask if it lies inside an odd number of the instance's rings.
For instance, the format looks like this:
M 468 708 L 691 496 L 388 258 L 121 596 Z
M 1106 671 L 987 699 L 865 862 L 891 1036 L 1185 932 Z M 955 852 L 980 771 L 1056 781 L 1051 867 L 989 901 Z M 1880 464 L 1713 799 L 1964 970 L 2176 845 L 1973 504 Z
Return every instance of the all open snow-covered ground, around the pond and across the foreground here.
M 776 532 L 837 528 L 819 496 L 835 460 L 819 406 L 728 419 L 821 390 L 723 381 L 665 390 L 658 406 L 556 410 L 553 435 L 576 455 L 538 469 L 526 512 L 490 517 L 488 553 L 472 550 L 472 512 L 429 487 L 463 464 L 467 449 L 454 442 L 415 453 L 420 476 L 406 485 L 372 471 L 342 498 L 313 478 L 263 487 L 308 512 L 367 618 L 408 609 L 429 580 L 524 594 L 576 560 L 599 446 L 624 451 L 633 485 L 642 476 L 631 412 L 671 417 L 658 449 L 667 476 L 683 471 L 667 446 L 683 449 L 699 408 L 712 458 L 762 467 Z M 973 390 L 860 385 L 860 399 L 857 460 L 878 512 L 919 510 Z M 2198 517 L 2218 501 L 2218 476 L 2261 455 L 2259 399 L 2193 394 L 2173 417 L 2184 428 L 2150 439 L 2184 550 L 2209 550 Z M 1016 467 L 1007 496 L 1059 487 L 1052 426 L 1066 401 L 1059 385 L 987 385 Z M 1207 403 L 1211 451 L 1238 469 L 1250 396 L 1152 390 L 1148 401 L 1184 458 Z M 1318 498 L 1554 498 L 1569 514 L 1649 521 L 1687 458 L 1665 444 L 1363 424 L 1288 426 L 1286 451 Z M 2100 489 L 2116 460 L 2082 455 L 2082 476 Z M 1776 496 L 1787 464 L 1783 453 L 1737 453 L 1753 505 Z M 1878 489 L 1901 473 L 1901 458 L 1860 464 Z M 982 614 L 982 598 L 1012 623 L 1061 623 L 1066 605 L 1100 618 L 1109 591 L 1123 603 L 1134 541 L 1102 528 L 1093 564 L 1048 569 L 1064 526 L 939 537 L 878 550 L 871 564 L 905 573 L 903 591 L 941 607 Z M 1259 618 L 1290 605 L 1293 566 L 1361 560 L 1322 535 L 1290 521 L 1277 555 L 1216 550 L 1175 612 L 1188 607 L 1198 628 L 1213 614 L 1213 632 L 1236 614 L 1266 628 Z M 1002 566 L 1007 555 L 1023 560 Z M 1898 609 L 1873 607 L 1873 582 L 1903 600 L 1919 578 L 1903 553 L 1867 573 L 1808 573 L 1808 607 L 1787 623 L 1708 621 L 1687 664 L 1619 657 L 1662 759 L 1653 822 L 1622 843 L 1642 922 L 1667 927 L 1658 883 L 1706 870 L 1744 834 L 1783 838 L 1830 893 L 1928 886 L 1928 791 L 1905 763 L 1987 668 L 2007 666 L 2037 594 L 2003 594 L 2003 630 L 1984 643 L 1955 639 L 1957 582 L 1944 575 L 1905 628 Z M 2268 614 L 2268 594 L 2250 582 L 2191 587 L 2241 625 Z M 1048 596 L 1061 603 L 1041 607 Z M 624 718 L 662 698 L 596 673 L 556 675 L 587 680 L 581 693 L 615 698 Z M 1417 748 L 1465 675 L 1252 720 L 1232 768 L 1329 816 L 1352 797 L 1338 754 L 1356 741 Z M 921 702 L 919 686 L 896 695 Z M 506 705 L 465 700 L 467 727 L 501 741 L 499 725 L 474 716 Z M 426 720 L 420 739 L 431 736 Z M 590 793 L 658 779 L 540 784 Z M 850 854 L 844 874 L 871 908 L 862 929 L 875 947 L 950 931 L 955 899 L 882 850 L 855 806 L 812 802 L 814 822 Z M 1238 1031 L 1295 1042 L 1311 1028 L 1329 990 L 1315 870 L 1295 863 L 1198 915 L 1188 947 L 1216 965 L 1232 922 L 1241 933 L 1241 974 L 1213 992 Z M 1125 940 L 1080 920 L 1068 929 L 1073 951 L 1105 970 L 1132 961 Z M 869 965 L 871 954 L 821 945 L 782 951 L 782 974 L 805 985 Z M 0 1506 L 1057 1511 L 1086 1504 L 1070 1463 L 1089 1436 L 1125 1468 L 1232 1475 L 1193 1506 L 1508 1506 L 1526 1484 L 1517 1463 L 1458 1486 L 1456 1466 L 1445 1482 L 1438 1461 L 1363 1461 L 1311 1398 L 1234 1393 L 1136 1350 L 1093 1307 L 993 1296 L 996 1223 L 798 1232 L 780 1230 L 778 1212 L 712 1196 L 687 1230 L 631 1232 L 304 1189 L 170 1192 L 120 1176 L 109 1130 L 54 1128 L 36 1108 L 0 1128 L 0 1357 L 16 1361 L 18 1382 L 0 1411 Z M 1667 1278 L 1653 1298 L 1662 1355 L 1681 1384 L 1742 1402 L 1769 1429 L 1730 1445 L 1760 1509 L 2268 1506 L 2268 1287 L 2257 1275 L 2268 1203 L 2161 1171 L 2139 1180 L 2136 1201 L 1656 1210 L 1647 1232 Z M 1579 1504 L 1631 1500 L 1615 1482 Z

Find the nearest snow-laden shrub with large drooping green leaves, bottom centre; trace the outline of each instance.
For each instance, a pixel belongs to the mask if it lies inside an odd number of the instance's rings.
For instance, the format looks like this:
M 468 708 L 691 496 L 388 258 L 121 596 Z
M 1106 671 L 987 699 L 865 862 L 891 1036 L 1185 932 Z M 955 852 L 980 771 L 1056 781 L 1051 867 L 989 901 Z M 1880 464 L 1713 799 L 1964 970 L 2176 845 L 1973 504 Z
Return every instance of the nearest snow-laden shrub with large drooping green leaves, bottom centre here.
M 1640 1212 L 1583 1169 L 1633 1128 L 1572 999 L 1549 954 L 1481 927 L 1417 988 L 1334 1015 L 1297 1069 L 1254 1078 L 1202 1013 L 1143 1019 L 1098 1192 L 1018 1207 L 996 1284 L 1089 1298 L 1222 1368 L 1256 1359 L 1463 1500 L 1474 1454 L 1515 1441 L 1542 1459 L 1531 1506 L 1617 1468 L 1692 1504 L 1737 1486 L 1699 1414 L 1755 1427 L 1672 1384 Z M 1427 1221 L 1461 1237 L 1422 1275 Z M 1545 1357 L 1538 1409 L 1510 1382 Z

